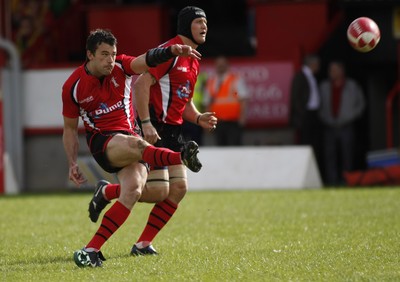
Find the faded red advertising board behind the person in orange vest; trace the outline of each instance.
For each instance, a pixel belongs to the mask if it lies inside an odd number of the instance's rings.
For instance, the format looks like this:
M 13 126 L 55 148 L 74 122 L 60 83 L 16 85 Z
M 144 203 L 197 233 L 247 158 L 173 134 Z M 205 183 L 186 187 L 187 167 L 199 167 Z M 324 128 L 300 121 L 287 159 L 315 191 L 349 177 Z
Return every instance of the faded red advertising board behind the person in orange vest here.
M 212 73 L 212 64 L 201 71 Z M 250 100 L 246 126 L 249 128 L 287 126 L 290 113 L 290 84 L 294 72 L 290 62 L 231 62 L 231 70 L 245 80 Z

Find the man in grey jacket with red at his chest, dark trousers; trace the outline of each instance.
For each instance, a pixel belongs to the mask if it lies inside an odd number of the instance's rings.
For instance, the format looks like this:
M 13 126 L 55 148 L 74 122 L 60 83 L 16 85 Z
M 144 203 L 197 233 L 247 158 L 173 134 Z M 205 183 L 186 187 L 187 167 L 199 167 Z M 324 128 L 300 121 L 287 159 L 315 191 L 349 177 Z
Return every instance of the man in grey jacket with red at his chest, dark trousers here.
M 320 117 L 324 125 L 324 159 L 326 182 L 341 185 L 343 172 L 353 169 L 354 123 L 365 108 L 360 86 L 346 77 L 342 62 L 329 64 L 329 79 L 320 86 Z

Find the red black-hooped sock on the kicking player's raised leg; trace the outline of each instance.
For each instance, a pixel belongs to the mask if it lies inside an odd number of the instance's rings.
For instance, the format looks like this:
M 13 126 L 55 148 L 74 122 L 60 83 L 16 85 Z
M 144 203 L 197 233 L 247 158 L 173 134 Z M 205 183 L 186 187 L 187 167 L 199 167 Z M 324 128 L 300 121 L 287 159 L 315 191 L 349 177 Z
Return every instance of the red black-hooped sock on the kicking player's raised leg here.
M 167 148 L 147 146 L 142 155 L 142 160 L 152 166 L 169 166 L 182 164 L 181 153 Z

